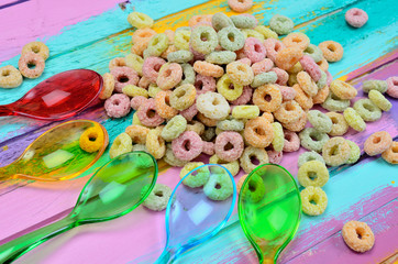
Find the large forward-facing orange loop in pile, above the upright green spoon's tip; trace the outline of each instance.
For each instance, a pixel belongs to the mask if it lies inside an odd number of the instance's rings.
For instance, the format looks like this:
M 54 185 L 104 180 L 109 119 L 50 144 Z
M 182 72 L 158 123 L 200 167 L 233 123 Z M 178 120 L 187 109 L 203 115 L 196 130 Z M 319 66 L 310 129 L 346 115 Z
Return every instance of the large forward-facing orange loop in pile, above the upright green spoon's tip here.
M 262 117 L 248 120 L 243 134 L 246 142 L 255 147 L 267 147 L 274 140 L 273 125 Z

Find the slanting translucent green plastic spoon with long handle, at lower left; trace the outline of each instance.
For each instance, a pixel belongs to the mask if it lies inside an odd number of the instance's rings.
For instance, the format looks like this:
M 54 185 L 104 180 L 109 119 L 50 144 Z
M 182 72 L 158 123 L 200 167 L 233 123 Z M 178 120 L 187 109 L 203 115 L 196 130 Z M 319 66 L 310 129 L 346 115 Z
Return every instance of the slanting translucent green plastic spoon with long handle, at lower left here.
M 113 158 L 88 180 L 68 216 L 0 245 L 0 263 L 11 263 L 75 227 L 112 220 L 131 212 L 152 191 L 156 178 L 156 160 L 145 152 L 130 152 Z

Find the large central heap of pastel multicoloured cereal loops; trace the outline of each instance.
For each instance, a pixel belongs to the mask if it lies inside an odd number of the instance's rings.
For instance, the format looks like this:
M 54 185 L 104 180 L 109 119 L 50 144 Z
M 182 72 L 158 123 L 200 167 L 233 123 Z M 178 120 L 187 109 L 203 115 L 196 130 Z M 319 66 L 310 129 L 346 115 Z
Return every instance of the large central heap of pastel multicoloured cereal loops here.
M 253 4 L 229 2 L 239 12 Z M 194 168 L 204 153 L 236 175 L 240 168 L 248 174 L 261 164 L 278 164 L 284 152 L 302 146 L 310 152 L 299 158 L 298 178 L 310 216 L 328 204 L 321 189 L 327 165 L 361 156 L 358 145 L 342 136 L 350 128 L 364 131 L 365 122 L 390 110 L 384 92 L 398 96 L 397 77 L 368 80 L 368 99 L 351 107 L 357 90 L 328 72 L 329 63 L 342 59 L 342 45 L 311 44 L 306 34 L 291 32 L 294 22 L 284 15 L 273 16 L 269 28 L 246 13 L 195 15 L 189 26 L 163 33 L 151 29 L 146 14 L 133 12 L 129 22 L 136 28 L 131 53 L 109 63 L 100 98 L 111 118 L 135 113 L 110 155 L 146 151 L 172 166 Z M 394 154 L 395 145 L 389 147 Z M 202 185 L 196 180 L 185 184 Z

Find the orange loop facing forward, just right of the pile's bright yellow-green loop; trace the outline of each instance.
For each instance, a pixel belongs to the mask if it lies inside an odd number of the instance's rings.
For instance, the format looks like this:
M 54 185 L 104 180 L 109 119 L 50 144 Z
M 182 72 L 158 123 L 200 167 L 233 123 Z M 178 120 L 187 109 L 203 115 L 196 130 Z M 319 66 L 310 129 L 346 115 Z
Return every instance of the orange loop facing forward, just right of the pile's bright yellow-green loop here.
M 264 112 L 274 112 L 281 105 L 281 94 L 275 85 L 258 87 L 253 94 L 253 102 Z

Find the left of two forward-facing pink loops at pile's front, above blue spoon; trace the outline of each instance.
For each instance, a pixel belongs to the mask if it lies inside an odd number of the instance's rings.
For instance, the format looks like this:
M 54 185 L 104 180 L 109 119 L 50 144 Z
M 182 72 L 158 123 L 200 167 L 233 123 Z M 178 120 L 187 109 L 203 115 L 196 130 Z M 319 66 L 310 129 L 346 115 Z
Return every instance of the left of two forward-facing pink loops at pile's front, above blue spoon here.
M 192 161 L 203 150 L 202 139 L 194 131 L 185 131 L 172 142 L 174 155 L 181 161 Z

